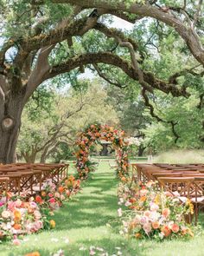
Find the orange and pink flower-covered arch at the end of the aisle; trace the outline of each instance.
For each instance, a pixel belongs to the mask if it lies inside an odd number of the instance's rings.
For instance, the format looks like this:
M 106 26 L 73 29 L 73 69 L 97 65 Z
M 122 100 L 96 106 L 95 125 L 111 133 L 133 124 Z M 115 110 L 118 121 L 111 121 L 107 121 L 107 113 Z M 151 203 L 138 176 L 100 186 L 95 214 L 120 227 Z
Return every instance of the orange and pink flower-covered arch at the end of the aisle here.
M 80 133 L 76 145 L 78 150 L 76 168 L 81 180 L 85 180 L 89 173 L 95 170 L 94 162 L 89 159 L 89 152 L 92 144 L 99 141 L 110 141 L 116 151 L 117 175 L 122 178 L 128 175 L 128 142 L 125 141 L 124 131 L 114 129 L 108 125 L 92 124 Z

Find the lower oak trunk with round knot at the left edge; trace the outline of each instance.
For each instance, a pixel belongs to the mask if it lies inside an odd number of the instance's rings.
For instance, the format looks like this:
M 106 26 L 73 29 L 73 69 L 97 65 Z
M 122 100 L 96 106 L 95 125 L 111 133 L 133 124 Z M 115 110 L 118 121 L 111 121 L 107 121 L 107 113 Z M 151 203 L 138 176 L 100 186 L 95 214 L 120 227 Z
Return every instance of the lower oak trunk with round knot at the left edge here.
M 21 127 L 22 95 L 0 99 L 0 163 L 16 162 L 16 143 Z

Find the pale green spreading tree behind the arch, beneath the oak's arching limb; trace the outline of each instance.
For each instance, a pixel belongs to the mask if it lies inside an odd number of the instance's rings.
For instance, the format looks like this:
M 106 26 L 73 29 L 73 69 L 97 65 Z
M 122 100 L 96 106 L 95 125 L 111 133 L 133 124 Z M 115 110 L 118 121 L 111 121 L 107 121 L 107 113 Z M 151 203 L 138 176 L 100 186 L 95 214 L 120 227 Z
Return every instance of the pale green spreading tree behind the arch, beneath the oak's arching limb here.
M 94 85 L 89 84 L 86 90 L 70 89 L 67 95 L 49 92 L 41 95 L 41 100 L 48 104 L 51 95 L 50 108 L 42 104 L 41 109 L 35 111 L 36 97 L 23 112 L 17 153 L 27 162 L 36 159 L 45 162 L 53 155 L 59 160 L 59 154 L 65 159 L 62 152 L 70 152 L 78 132 L 85 126 L 94 122 L 118 123 L 117 113 L 105 102 L 105 89 L 97 81 Z

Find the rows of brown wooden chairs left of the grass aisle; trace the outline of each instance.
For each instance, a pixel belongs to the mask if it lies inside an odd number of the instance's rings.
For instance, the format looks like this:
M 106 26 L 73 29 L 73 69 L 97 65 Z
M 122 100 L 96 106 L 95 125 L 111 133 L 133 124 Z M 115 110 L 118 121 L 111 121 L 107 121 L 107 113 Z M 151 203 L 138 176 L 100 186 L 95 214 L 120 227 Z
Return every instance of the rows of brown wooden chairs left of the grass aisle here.
M 0 165 L 0 194 L 8 197 L 8 192 L 20 194 L 27 191 L 30 195 L 41 192 L 44 181 L 58 184 L 67 177 L 68 164 L 29 164 L 17 163 Z

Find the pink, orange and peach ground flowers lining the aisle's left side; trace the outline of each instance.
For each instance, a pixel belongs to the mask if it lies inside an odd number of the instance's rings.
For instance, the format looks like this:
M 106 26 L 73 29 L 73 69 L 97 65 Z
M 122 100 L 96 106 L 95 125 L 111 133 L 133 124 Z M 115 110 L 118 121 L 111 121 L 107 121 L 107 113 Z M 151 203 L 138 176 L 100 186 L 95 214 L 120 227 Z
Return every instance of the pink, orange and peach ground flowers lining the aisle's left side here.
M 41 229 L 55 227 L 52 219 L 54 211 L 63 205 L 73 194 L 80 191 L 80 180 L 73 175 L 56 186 L 48 180 L 43 184 L 40 194 L 30 197 L 23 191 L 20 195 L 9 193 L 0 200 L 0 241 L 12 240 L 15 245 L 20 241 L 18 235 L 36 233 Z

